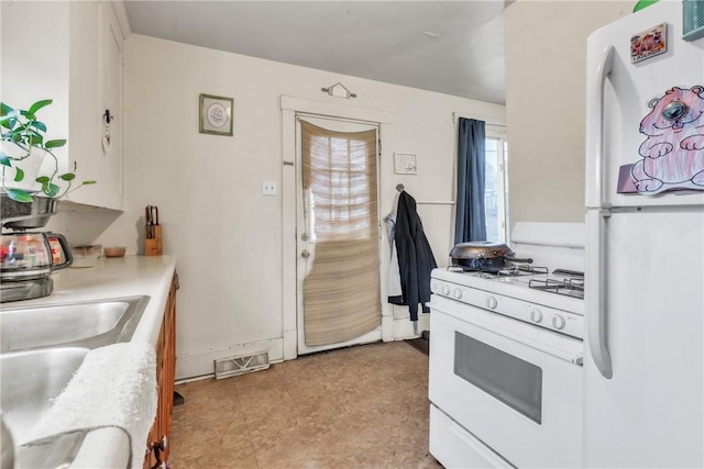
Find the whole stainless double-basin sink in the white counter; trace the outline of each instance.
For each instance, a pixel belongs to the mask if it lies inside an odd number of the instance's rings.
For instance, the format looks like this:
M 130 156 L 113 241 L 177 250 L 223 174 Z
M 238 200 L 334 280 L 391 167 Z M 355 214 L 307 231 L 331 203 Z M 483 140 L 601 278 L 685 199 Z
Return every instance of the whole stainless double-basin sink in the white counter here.
M 41 418 L 95 348 L 129 342 L 148 297 L 0 310 L 0 409 L 15 445 Z

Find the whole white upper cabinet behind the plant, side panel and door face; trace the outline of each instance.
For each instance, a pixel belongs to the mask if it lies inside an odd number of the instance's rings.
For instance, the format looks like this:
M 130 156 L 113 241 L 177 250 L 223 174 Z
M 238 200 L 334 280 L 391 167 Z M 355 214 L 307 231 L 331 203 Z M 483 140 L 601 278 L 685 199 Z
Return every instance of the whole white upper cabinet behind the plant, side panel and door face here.
M 97 181 L 72 202 L 124 209 L 123 44 L 112 1 L 2 2 L 2 101 L 54 100 L 40 120 L 48 138 L 68 139 L 59 172 Z

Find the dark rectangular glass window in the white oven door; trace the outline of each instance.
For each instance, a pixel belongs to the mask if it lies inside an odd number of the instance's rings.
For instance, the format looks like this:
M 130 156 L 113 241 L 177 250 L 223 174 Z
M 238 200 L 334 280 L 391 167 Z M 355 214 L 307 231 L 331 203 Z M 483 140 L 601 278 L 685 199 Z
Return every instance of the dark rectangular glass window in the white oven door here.
M 455 331 L 454 373 L 540 424 L 540 367 Z

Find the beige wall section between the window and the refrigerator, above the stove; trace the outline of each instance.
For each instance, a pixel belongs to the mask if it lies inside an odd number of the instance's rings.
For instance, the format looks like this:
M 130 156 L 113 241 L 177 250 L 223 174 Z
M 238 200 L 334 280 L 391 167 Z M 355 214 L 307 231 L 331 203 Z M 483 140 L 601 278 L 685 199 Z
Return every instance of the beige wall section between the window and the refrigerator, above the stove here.
M 506 10 L 512 226 L 584 220 L 586 37 L 635 4 L 519 0 Z

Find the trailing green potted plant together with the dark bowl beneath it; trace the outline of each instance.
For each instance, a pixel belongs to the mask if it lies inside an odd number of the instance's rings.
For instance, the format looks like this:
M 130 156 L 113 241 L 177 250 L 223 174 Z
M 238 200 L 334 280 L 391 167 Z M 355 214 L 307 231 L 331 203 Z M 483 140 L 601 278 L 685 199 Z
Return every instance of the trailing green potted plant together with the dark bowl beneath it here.
M 56 213 L 57 200 L 81 186 L 74 186 L 74 172 L 59 174 L 58 158 L 52 152 L 66 145 L 66 139 L 47 139 L 46 124 L 37 111 L 53 101 L 36 101 L 29 109 L 13 109 L 0 102 L 0 199 L 2 226 L 33 228 L 44 226 Z M 53 168 L 47 175 L 40 170 L 47 155 Z M 72 188 L 73 187 L 73 188 Z

